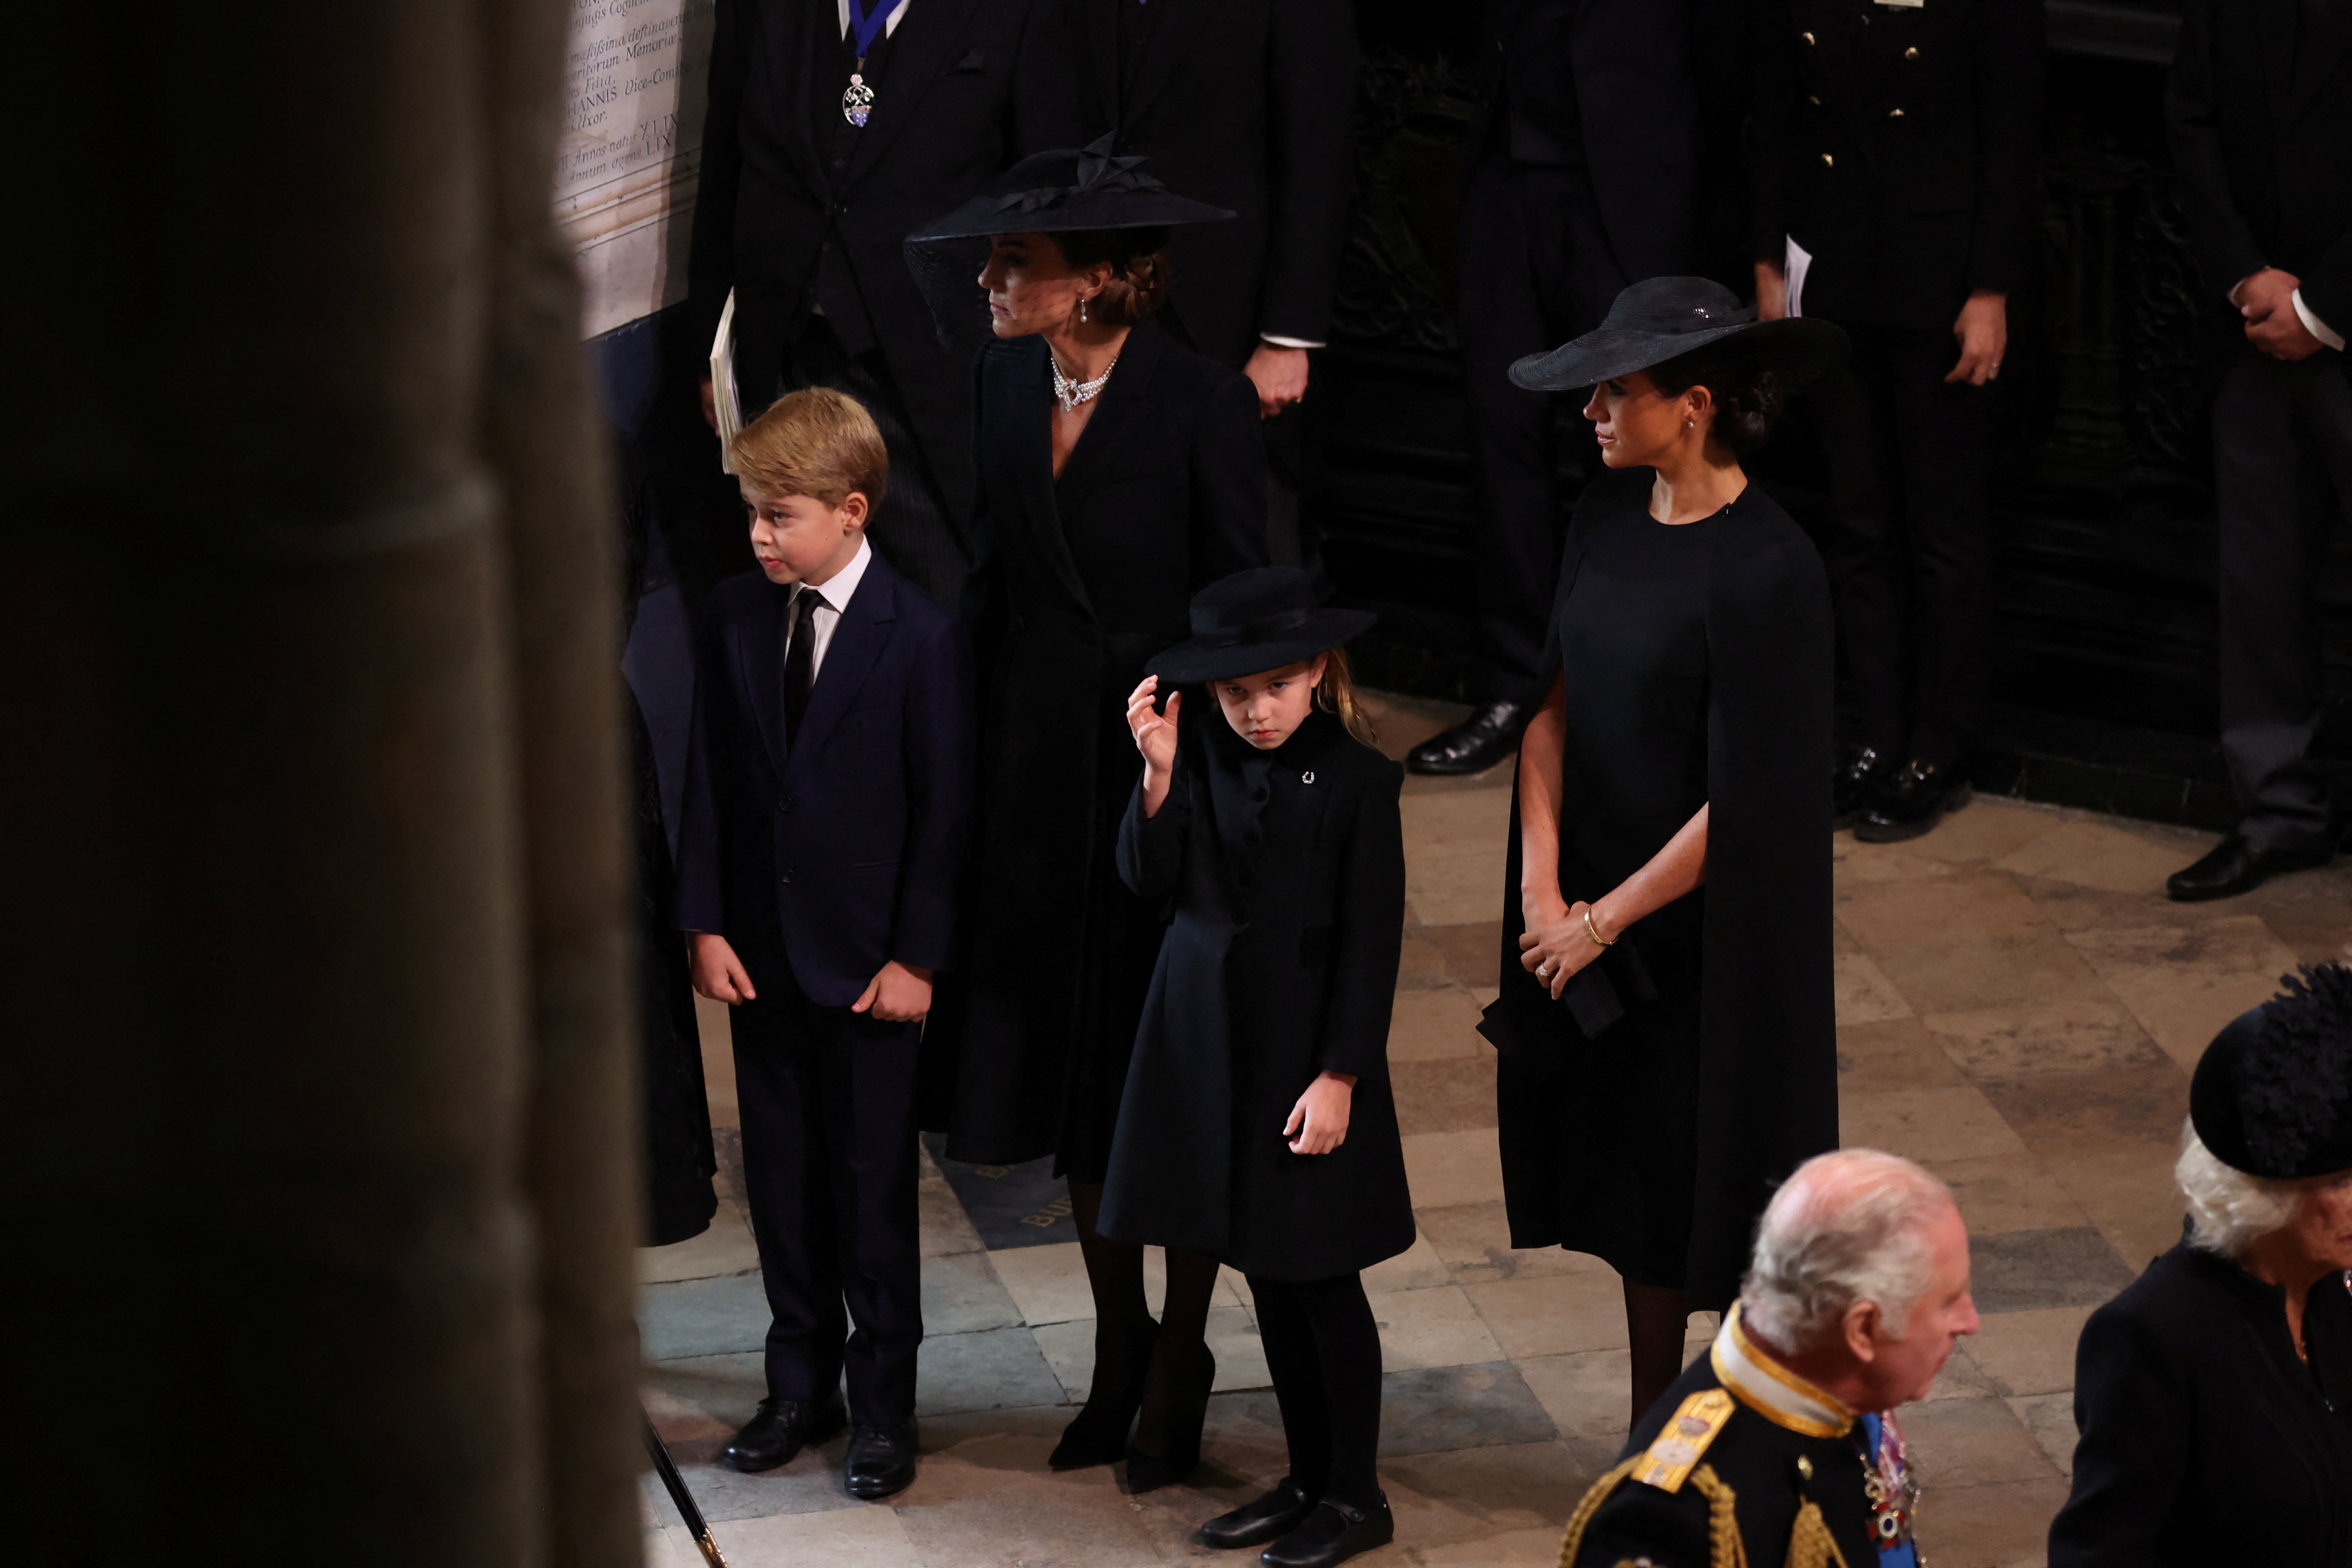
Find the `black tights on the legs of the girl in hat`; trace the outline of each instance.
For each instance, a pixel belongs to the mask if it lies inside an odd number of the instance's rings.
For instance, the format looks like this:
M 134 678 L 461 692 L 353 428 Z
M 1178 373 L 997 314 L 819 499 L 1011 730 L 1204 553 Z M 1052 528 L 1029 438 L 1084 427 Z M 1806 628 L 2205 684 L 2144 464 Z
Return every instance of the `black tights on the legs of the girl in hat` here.
M 1308 1497 L 1378 1507 L 1381 1326 L 1362 1276 L 1301 1284 L 1251 1274 L 1249 1293 L 1291 1446 L 1291 1481 Z

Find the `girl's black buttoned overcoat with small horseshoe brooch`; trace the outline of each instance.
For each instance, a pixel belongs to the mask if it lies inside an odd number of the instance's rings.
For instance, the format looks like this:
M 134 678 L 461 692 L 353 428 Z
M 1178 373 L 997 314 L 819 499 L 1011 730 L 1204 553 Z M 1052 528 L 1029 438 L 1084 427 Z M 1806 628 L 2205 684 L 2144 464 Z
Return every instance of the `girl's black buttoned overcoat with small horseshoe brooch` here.
M 1120 827 L 1120 877 L 1169 907 L 1127 1072 L 1103 1234 L 1329 1279 L 1414 1244 L 1388 1086 L 1404 926 L 1404 769 L 1327 712 L 1261 752 L 1195 691 L 1176 776 Z M 1348 1138 L 1291 1154 L 1291 1107 L 1355 1074 Z

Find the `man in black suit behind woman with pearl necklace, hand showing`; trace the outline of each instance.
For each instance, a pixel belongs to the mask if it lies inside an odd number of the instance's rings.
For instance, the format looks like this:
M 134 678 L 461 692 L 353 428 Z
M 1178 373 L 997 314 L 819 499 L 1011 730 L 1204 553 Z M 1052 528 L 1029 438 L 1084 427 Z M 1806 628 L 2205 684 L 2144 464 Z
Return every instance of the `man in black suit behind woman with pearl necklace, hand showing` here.
M 1160 320 L 1258 388 L 1275 555 L 1317 569 L 1298 517 L 1308 350 L 1331 331 L 1355 129 L 1350 0 L 1075 0 L 1087 134 L 1150 158 L 1230 223 L 1176 230 Z

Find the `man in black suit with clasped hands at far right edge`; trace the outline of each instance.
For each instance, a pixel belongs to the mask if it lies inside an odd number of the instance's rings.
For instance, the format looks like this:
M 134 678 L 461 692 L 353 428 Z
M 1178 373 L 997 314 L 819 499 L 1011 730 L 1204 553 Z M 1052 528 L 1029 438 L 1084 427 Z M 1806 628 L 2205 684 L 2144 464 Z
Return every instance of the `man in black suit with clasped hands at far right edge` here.
M 2352 0 L 2190 0 L 2164 108 L 2204 282 L 2246 317 L 2213 400 L 2220 748 L 2239 820 L 2166 884 L 2197 900 L 2336 853 L 2310 748 L 2319 562 L 2331 512 L 2352 515 Z

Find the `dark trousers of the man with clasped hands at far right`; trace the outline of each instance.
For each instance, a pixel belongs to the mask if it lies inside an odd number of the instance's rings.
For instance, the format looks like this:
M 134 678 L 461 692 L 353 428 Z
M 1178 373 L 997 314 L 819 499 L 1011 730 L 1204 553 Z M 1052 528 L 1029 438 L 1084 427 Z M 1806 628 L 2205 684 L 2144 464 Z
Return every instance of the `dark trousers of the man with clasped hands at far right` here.
M 2321 348 L 2286 364 L 2239 350 L 2213 400 L 2220 529 L 2220 750 L 2239 832 L 2258 849 L 2328 844 L 2310 762 L 2321 710 L 2319 567 L 2336 508 L 2352 515 L 2352 383 Z

